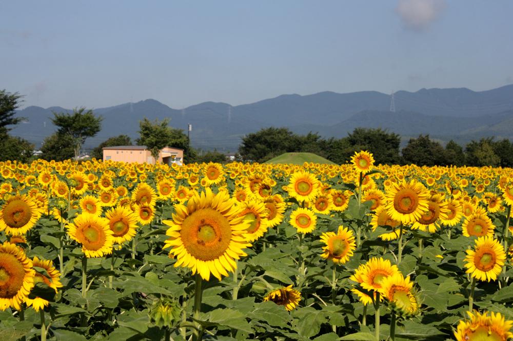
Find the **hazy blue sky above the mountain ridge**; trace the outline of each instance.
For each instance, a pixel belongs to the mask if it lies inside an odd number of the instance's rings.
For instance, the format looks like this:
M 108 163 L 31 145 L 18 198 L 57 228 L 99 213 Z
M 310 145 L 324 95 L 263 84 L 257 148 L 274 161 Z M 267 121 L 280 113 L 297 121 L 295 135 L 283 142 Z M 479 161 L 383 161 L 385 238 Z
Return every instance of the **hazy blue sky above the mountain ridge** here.
M 513 83 L 513 2 L 2 1 L 0 89 L 24 106 L 175 109 L 281 94 Z

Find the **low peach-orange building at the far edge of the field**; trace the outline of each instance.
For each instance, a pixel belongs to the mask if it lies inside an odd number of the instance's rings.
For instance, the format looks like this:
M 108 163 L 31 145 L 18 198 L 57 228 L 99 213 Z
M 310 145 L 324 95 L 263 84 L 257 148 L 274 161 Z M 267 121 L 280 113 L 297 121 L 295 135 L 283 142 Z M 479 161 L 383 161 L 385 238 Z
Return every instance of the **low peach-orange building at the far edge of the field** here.
M 155 158 L 144 145 L 117 145 L 103 148 L 103 160 L 155 163 Z M 182 148 L 164 147 L 159 153 L 157 161 L 160 163 L 176 163 L 182 165 L 184 150 Z

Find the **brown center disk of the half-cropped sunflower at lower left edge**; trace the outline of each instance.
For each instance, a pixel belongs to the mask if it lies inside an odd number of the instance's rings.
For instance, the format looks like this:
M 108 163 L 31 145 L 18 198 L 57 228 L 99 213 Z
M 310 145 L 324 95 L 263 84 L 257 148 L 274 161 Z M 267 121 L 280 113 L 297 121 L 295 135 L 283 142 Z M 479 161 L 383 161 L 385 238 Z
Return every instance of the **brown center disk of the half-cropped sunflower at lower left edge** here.
M 14 297 L 23 286 L 25 270 L 16 257 L 0 253 L 0 298 Z

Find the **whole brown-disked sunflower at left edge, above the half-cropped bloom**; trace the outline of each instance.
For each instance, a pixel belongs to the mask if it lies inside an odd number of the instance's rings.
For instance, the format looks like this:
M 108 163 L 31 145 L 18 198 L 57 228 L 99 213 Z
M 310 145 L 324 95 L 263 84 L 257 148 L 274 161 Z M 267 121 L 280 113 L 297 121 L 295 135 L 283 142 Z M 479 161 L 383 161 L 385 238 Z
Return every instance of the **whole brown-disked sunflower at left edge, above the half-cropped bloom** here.
M 25 235 L 40 217 L 41 209 L 32 198 L 26 195 L 7 196 L 0 210 L 0 231 L 13 236 Z

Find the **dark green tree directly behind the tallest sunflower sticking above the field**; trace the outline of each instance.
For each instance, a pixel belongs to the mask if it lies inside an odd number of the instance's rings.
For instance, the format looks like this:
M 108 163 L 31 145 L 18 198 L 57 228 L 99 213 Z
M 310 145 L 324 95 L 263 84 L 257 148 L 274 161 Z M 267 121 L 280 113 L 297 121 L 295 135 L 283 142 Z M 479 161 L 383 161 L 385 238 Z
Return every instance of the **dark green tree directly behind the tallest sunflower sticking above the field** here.
M 372 153 L 376 164 L 397 164 L 401 161 L 399 146 L 401 136 L 389 133 L 381 128 L 356 128 L 347 136 L 351 146 L 346 150 L 345 161 L 348 161 L 354 152 L 368 151 Z

